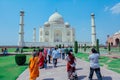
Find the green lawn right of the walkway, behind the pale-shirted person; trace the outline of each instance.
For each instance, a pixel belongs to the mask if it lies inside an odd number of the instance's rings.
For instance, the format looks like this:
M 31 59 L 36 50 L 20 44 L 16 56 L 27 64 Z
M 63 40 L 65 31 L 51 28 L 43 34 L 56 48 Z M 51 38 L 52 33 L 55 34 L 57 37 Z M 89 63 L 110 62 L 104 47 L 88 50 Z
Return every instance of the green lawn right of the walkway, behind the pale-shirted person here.
M 75 54 L 75 56 L 82 60 L 89 61 L 88 60 L 89 55 L 86 53 L 78 53 Z M 100 66 L 106 66 L 107 69 L 120 73 L 120 65 L 119 65 L 120 59 L 113 59 L 105 56 L 100 56 L 99 62 L 100 62 Z

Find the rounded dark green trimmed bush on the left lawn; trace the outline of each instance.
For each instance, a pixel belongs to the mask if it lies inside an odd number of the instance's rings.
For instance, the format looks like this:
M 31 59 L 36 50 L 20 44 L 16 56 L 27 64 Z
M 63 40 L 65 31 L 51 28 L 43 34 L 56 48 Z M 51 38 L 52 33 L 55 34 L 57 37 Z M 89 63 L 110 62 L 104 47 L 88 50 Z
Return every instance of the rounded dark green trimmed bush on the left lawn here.
M 17 65 L 24 65 L 26 62 L 26 55 L 25 54 L 16 54 L 15 62 Z

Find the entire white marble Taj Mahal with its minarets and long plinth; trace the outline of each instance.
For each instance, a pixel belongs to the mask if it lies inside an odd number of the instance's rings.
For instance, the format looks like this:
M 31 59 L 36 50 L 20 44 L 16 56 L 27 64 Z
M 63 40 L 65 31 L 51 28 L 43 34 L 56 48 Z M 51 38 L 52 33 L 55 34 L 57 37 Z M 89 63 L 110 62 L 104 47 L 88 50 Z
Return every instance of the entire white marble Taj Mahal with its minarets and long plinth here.
M 96 45 L 96 31 L 94 14 L 91 14 L 91 42 L 78 42 L 84 45 Z M 57 11 L 54 12 L 42 27 L 39 28 L 39 41 L 36 41 L 36 28 L 33 29 L 33 41 L 25 42 L 24 40 L 24 11 L 20 11 L 20 27 L 18 46 L 28 47 L 54 47 L 56 45 L 73 46 L 75 41 L 75 29 L 64 21 L 64 18 Z

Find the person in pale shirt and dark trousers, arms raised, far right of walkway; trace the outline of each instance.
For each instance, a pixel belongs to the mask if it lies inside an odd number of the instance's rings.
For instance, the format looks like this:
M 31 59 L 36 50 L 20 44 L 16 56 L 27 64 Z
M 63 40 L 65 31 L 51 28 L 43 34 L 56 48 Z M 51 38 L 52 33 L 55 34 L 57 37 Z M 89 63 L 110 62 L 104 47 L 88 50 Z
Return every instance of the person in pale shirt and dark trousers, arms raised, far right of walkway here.
M 89 80 L 92 80 L 93 73 L 95 71 L 98 80 L 102 80 L 101 72 L 100 72 L 100 65 L 99 65 L 99 53 L 92 48 L 91 49 L 91 54 L 89 55 L 89 60 L 90 60 L 90 73 L 89 73 Z

